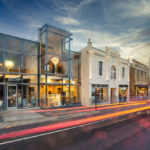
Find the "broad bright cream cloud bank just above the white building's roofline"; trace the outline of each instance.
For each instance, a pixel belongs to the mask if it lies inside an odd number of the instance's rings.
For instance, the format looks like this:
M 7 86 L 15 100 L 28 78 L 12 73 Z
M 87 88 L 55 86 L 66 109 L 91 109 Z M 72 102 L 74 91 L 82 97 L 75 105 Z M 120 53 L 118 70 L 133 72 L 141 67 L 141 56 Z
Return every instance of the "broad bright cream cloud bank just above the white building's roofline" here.
M 86 46 L 88 38 L 91 38 L 93 47 L 104 49 L 105 46 L 114 50 L 119 50 L 121 57 L 137 59 L 148 65 L 150 57 L 150 41 L 146 39 L 144 32 L 149 28 L 130 30 L 129 33 L 113 35 L 105 31 L 93 31 L 86 29 L 70 29 L 74 35 L 74 50 L 79 50 Z M 141 36 L 141 37 L 140 37 Z M 138 37 L 140 37 L 138 39 Z M 149 38 L 148 38 L 149 39 Z

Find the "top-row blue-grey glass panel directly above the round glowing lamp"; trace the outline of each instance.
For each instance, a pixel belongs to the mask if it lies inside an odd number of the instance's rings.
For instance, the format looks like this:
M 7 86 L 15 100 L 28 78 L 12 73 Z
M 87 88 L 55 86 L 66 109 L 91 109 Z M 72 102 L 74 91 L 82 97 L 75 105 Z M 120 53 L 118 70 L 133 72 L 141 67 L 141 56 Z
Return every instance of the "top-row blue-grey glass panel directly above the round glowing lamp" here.
M 17 38 L 13 38 L 13 37 L 6 37 L 6 49 L 7 50 L 15 50 L 15 51 L 21 51 L 22 49 L 22 41 L 17 39 Z

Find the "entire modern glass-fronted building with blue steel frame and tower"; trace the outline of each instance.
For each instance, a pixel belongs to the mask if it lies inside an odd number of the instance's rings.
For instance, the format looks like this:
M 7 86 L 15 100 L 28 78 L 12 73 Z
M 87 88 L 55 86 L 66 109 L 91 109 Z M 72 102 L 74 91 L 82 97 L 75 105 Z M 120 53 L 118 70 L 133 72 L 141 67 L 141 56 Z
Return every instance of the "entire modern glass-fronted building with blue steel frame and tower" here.
M 45 24 L 39 41 L 0 33 L 0 101 L 3 109 L 78 104 L 80 54 L 72 34 Z

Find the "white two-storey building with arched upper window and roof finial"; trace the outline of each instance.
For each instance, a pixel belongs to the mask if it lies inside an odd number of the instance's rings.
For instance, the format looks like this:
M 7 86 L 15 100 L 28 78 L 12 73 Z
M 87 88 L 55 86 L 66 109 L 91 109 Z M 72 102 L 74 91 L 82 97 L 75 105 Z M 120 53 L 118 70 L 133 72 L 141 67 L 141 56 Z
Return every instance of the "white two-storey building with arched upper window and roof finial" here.
M 89 40 L 81 50 L 81 104 L 128 101 L 129 87 L 129 60 L 108 47 L 96 49 Z

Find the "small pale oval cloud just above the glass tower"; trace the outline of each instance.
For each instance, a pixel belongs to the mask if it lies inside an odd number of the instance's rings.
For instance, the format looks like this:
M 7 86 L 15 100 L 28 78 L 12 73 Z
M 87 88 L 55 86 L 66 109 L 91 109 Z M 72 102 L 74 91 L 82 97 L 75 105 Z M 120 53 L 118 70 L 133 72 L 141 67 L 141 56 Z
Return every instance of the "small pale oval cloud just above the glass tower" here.
M 79 25 L 80 24 L 80 22 L 77 19 L 74 19 L 72 17 L 56 17 L 55 21 L 58 21 L 64 25 Z

